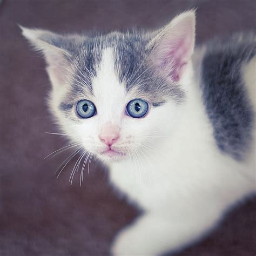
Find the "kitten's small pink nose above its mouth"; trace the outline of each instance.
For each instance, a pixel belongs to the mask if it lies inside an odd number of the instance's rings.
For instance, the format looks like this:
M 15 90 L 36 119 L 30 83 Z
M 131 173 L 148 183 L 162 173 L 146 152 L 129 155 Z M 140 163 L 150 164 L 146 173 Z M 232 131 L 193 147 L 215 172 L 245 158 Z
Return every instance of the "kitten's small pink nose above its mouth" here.
M 105 143 L 107 146 L 111 146 L 116 143 L 119 138 L 120 129 L 118 126 L 113 125 L 111 123 L 106 123 L 102 131 L 99 133 L 99 139 Z

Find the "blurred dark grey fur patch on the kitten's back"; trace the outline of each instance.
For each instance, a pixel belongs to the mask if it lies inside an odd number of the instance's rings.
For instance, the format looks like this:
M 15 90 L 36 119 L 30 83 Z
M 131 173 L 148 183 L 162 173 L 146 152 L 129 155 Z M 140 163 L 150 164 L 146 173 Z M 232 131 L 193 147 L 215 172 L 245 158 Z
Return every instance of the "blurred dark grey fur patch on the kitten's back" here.
M 250 147 L 254 113 L 241 69 L 256 53 L 256 37 L 234 35 L 206 45 L 201 64 L 203 102 L 219 149 L 242 159 Z

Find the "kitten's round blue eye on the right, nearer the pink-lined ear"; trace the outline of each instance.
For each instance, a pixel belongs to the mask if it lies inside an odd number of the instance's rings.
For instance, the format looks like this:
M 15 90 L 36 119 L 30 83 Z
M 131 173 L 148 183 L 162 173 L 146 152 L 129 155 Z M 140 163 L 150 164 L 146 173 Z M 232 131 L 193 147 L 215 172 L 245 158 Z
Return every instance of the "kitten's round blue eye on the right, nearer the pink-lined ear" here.
M 133 118 L 144 117 L 147 110 L 149 110 L 149 104 L 143 99 L 133 99 L 126 106 L 127 113 Z

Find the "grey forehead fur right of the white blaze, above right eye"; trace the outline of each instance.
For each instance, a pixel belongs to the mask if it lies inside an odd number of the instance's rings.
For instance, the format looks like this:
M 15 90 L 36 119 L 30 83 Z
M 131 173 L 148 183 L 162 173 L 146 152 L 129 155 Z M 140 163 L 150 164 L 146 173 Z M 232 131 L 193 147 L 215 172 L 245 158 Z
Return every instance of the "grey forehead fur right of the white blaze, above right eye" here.
M 170 99 L 182 102 L 184 91 L 160 76 L 152 65 L 150 51 L 146 49 L 150 39 L 150 34 L 134 31 L 116 41 L 116 70 L 120 82 L 125 84 L 127 91 L 136 90 L 156 106 Z

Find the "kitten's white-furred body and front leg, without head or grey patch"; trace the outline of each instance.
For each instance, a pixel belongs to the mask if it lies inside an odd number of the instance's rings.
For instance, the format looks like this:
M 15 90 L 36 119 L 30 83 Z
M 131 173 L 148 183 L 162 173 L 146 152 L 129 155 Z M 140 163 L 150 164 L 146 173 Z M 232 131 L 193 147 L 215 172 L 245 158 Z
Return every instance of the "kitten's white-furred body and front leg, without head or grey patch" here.
M 254 50 L 255 55 L 255 37 L 250 39 L 254 40 L 254 49 L 250 50 Z M 230 38 L 228 44 L 234 50 L 233 56 L 237 55 L 235 49 L 239 43 Z M 219 149 L 214 138 L 214 128 L 207 114 L 200 86 L 204 83 L 200 77 L 201 64 L 209 47 L 211 46 L 205 45 L 194 53 L 193 66 L 196 69 L 194 76 L 187 77 L 184 81 L 188 93 L 186 104 L 181 107 L 177 130 L 171 136 L 166 134 L 160 144 L 151 145 L 147 149 L 149 154 L 146 159 L 138 157 L 136 163 L 127 160 L 126 163 L 112 165 L 112 183 L 144 210 L 144 215 L 133 225 L 124 228 L 117 237 L 114 247 L 116 252 L 120 248 L 126 248 L 124 251 L 134 255 L 138 252 L 139 255 L 158 255 L 160 252 L 182 248 L 210 231 L 230 207 L 255 191 L 255 130 L 252 140 L 246 144 L 250 148 L 245 152 L 240 151 L 242 160 L 229 154 L 232 144 L 227 145 L 227 152 L 224 152 Z M 213 69 L 218 69 L 225 60 L 225 44 L 219 50 L 224 59 L 215 62 Z M 236 69 L 230 70 L 231 72 L 241 72 L 246 87 L 246 106 L 239 105 L 239 98 L 238 105 L 233 105 L 233 111 L 238 115 L 239 107 L 250 106 L 253 111 L 256 109 L 256 58 L 249 57 L 250 51 L 247 53 L 244 60 L 237 59 L 239 66 L 230 67 Z M 225 78 L 228 79 L 227 76 Z M 224 84 L 234 86 L 227 81 Z M 214 114 L 213 112 L 214 109 L 210 114 Z M 233 131 L 229 131 L 231 133 L 228 136 L 232 136 L 234 129 L 233 127 Z M 242 136 L 245 131 L 239 132 Z M 228 138 L 224 139 L 228 141 Z M 133 166 L 137 167 L 138 173 L 134 174 Z

